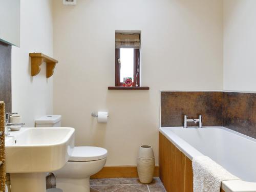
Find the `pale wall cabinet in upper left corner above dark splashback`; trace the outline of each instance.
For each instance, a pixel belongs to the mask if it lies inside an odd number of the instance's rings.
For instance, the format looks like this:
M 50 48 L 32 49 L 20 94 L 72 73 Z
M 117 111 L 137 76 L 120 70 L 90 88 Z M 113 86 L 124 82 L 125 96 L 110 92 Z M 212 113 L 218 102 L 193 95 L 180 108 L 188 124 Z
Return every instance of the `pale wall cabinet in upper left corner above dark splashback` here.
M 0 40 L 19 47 L 20 0 L 0 0 Z

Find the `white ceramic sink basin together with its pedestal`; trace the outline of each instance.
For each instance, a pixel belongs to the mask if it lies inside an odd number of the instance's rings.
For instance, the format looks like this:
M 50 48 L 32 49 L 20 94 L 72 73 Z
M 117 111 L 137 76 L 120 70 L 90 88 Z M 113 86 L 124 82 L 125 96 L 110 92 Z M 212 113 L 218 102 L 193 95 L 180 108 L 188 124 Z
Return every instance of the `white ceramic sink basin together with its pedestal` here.
M 74 148 L 70 127 L 22 128 L 6 137 L 12 192 L 46 192 L 46 172 L 63 167 Z

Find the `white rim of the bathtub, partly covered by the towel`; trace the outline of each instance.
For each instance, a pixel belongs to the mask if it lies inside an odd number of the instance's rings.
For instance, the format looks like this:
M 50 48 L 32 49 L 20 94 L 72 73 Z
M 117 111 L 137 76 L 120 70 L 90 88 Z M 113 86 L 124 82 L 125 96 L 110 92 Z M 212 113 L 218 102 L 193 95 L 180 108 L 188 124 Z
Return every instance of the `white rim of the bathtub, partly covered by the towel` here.
M 231 134 L 239 135 L 245 139 L 248 139 L 252 142 L 256 143 L 256 139 L 246 136 L 244 134 L 241 134 L 239 132 L 230 130 L 223 126 L 204 126 L 202 128 L 198 127 L 182 127 L 182 126 L 173 126 L 173 127 L 159 127 L 159 132 L 163 134 L 170 142 L 172 142 L 185 156 L 187 156 L 191 161 L 193 157 L 195 156 L 204 156 L 202 153 L 200 153 L 195 147 L 188 144 L 185 140 L 180 138 L 178 135 L 176 135 L 173 132 L 170 132 L 168 134 L 165 133 L 165 130 L 167 129 L 220 129 L 227 132 L 230 132 Z M 221 188 L 225 192 L 255 192 L 256 191 L 256 182 L 247 182 L 242 180 L 235 180 L 235 181 L 223 181 L 221 184 Z

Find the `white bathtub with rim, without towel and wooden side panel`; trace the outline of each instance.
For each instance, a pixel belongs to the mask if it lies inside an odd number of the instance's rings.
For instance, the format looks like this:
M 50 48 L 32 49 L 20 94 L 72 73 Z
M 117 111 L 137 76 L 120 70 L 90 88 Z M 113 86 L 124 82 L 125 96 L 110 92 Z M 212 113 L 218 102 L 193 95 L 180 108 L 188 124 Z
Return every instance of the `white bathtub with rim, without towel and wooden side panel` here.
M 241 181 L 223 181 L 225 192 L 256 191 L 256 139 L 225 127 L 160 127 L 189 159 L 208 156 Z

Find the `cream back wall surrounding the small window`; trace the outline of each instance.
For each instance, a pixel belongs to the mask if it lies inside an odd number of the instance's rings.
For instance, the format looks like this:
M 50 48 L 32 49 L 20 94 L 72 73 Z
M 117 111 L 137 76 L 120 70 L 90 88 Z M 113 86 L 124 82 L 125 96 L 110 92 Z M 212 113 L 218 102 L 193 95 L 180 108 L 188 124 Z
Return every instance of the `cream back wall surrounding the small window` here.
M 158 159 L 159 90 L 221 90 L 221 0 L 79 0 L 53 2 L 53 111 L 76 129 L 77 145 L 109 151 L 107 165 L 135 165 L 141 144 Z M 115 30 L 141 30 L 142 85 L 115 82 Z M 108 110 L 108 124 L 91 112 Z

